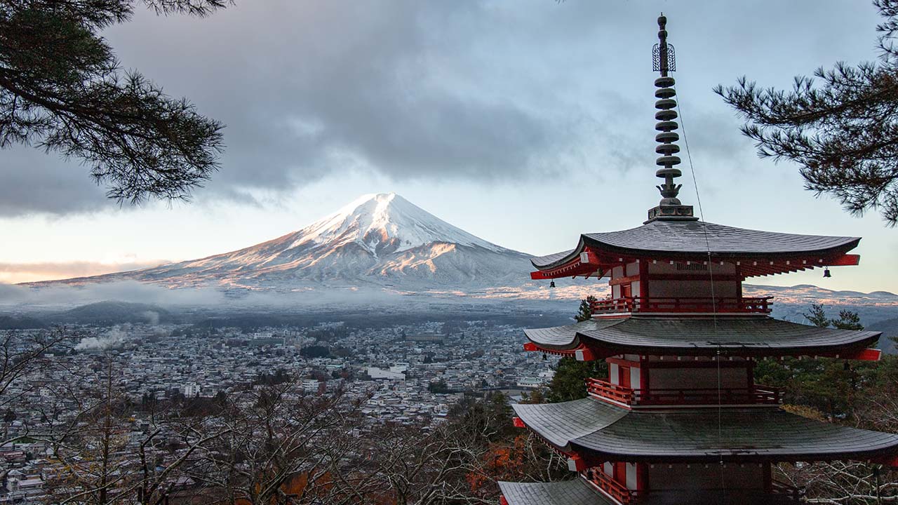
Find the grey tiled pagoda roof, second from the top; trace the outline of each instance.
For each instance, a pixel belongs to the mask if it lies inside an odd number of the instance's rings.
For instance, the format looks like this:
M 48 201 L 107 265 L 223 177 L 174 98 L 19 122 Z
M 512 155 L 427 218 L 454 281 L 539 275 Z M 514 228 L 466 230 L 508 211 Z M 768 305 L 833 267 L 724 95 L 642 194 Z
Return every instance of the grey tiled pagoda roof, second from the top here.
M 554 328 L 524 330 L 533 343 L 550 350 L 570 350 L 581 343 L 637 354 L 672 354 L 697 350 L 740 350 L 749 353 L 824 354 L 863 349 L 881 332 L 858 332 L 789 323 L 769 316 L 685 318 L 631 316 L 594 319 Z

